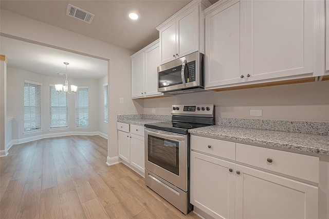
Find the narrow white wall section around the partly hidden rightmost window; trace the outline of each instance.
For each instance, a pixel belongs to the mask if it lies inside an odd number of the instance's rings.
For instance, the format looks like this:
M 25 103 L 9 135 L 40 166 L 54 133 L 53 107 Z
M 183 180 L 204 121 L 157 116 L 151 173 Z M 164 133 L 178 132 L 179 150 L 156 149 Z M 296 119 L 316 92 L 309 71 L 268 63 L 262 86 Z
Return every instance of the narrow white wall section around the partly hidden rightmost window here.
M 107 138 L 108 123 L 104 122 L 104 84 L 107 84 L 107 76 L 98 80 L 98 129 L 101 135 Z

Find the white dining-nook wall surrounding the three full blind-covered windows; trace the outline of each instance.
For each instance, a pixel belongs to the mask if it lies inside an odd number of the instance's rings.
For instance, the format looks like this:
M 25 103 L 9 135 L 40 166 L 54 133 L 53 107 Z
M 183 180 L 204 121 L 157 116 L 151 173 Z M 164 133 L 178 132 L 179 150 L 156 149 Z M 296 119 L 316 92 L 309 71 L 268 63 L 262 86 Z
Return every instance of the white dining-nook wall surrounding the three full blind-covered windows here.
M 42 132 L 30 132 L 24 134 L 24 81 L 41 83 L 41 128 Z M 89 92 L 89 127 L 76 128 L 75 121 L 75 101 L 76 95 L 67 96 L 68 105 L 68 129 L 49 130 L 50 109 L 49 109 L 49 85 L 64 82 L 64 78 L 48 77 L 35 74 L 22 69 L 7 68 L 7 112 L 8 117 L 12 117 L 12 138 L 24 142 L 39 135 L 55 135 L 57 133 L 86 133 L 93 134 L 99 131 L 99 89 L 98 80 L 93 79 L 71 79 L 70 84 L 87 86 Z M 97 97 L 97 98 L 95 98 Z M 26 139 L 26 140 L 24 140 Z

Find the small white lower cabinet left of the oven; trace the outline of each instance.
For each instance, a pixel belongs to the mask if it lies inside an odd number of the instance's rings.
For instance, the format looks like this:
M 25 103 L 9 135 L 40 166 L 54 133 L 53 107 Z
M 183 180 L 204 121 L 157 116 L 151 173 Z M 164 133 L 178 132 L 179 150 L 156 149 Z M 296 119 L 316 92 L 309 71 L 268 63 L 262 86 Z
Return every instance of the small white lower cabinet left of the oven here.
M 117 123 L 119 157 L 131 169 L 144 175 L 144 126 Z

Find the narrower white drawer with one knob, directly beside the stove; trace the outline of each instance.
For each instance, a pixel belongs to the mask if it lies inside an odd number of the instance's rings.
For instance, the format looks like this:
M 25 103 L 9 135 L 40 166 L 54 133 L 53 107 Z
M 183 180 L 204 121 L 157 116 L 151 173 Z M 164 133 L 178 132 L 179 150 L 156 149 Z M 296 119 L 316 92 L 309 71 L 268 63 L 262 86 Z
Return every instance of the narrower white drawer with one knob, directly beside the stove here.
M 235 160 L 234 142 L 192 135 L 191 149 L 204 152 L 209 155 Z

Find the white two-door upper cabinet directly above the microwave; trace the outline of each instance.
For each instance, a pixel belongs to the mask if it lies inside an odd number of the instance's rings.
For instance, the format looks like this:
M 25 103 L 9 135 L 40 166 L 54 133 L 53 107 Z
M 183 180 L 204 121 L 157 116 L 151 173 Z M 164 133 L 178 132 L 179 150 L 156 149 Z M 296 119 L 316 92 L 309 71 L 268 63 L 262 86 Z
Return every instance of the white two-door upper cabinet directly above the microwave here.
M 203 10 L 208 1 L 192 1 L 160 24 L 160 62 L 167 63 L 194 51 L 204 53 Z

